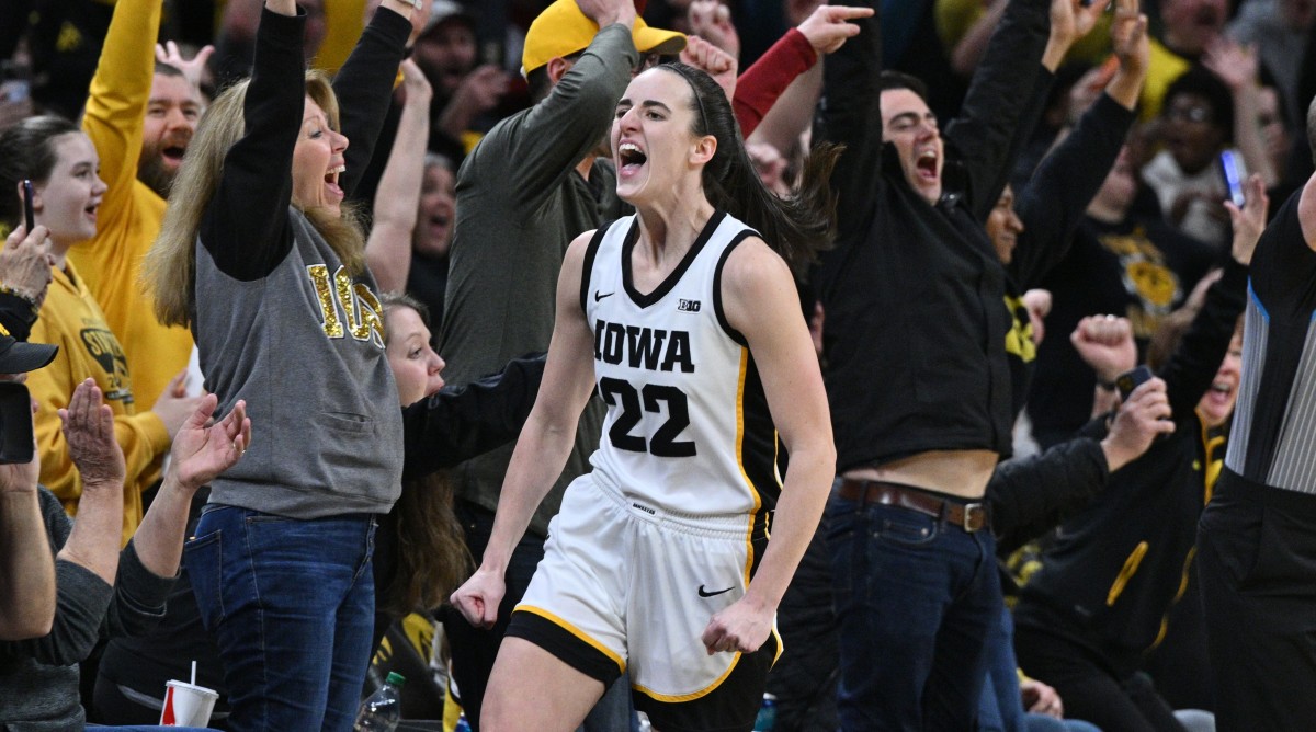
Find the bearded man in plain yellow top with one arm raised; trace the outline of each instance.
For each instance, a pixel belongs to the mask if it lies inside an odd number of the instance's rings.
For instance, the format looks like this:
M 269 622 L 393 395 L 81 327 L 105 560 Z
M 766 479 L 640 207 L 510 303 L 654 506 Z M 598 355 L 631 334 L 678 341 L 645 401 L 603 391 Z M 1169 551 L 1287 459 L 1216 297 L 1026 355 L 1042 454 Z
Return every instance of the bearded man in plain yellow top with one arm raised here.
M 137 280 L 203 109 L 200 92 L 180 70 L 155 63 L 150 39 L 161 7 L 161 0 L 120 0 L 114 8 L 82 121 L 109 188 L 96 237 L 68 252 L 124 347 L 136 398 L 146 405 L 166 388 L 182 388 L 171 380 L 192 354 L 191 334 L 162 326 Z

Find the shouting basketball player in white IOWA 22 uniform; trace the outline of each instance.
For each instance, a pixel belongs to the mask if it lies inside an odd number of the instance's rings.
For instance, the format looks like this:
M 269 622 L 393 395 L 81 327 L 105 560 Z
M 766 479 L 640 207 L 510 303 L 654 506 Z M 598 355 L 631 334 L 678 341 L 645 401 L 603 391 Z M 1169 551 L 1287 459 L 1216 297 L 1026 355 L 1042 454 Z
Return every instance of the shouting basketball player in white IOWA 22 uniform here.
M 776 605 L 834 470 L 791 265 L 830 237 L 836 152 L 815 154 L 799 198 L 774 197 L 724 92 L 683 64 L 630 83 L 612 149 L 637 214 L 567 250 L 551 386 L 516 446 L 483 564 L 453 594 L 471 623 L 494 623 L 505 557 L 597 389 L 608 415 L 594 472 L 550 526 L 482 727 L 575 729 L 629 669 L 655 729 L 749 731 L 780 652 Z

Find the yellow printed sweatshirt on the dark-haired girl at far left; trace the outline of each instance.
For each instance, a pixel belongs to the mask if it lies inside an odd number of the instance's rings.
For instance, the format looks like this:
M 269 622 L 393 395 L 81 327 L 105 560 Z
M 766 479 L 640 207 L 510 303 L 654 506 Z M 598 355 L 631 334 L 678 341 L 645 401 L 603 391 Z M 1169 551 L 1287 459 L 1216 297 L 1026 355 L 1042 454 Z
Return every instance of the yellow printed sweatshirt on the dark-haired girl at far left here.
M 124 350 L 72 264 L 54 271 L 30 340 L 59 346 L 59 354 L 50 365 L 28 375 L 28 389 L 39 405 L 37 452 L 41 455 L 41 484 L 59 497 L 70 515 L 78 514 L 82 476 L 59 431 L 59 410 L 68 406 L 74 388 L 89 376 L 114 411 L 114 438 L 124 448 L 122 543 L 126 544 L 142 522 L 142 492 L 154 482 L 159 459 L 168 452 L 170 438 L 164 423 L 154 413 L 143 407 L 138 414 Z

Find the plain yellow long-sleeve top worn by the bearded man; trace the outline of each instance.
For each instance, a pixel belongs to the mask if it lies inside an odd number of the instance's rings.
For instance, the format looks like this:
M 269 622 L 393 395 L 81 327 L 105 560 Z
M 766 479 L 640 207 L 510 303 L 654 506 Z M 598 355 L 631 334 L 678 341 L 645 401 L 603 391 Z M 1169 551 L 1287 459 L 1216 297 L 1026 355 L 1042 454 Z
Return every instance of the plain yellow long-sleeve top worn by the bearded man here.
M 118 0 L 83 114 L 109 187 L 96 212 L 96 237 L 68 252 L 124 344 L 143 410 L 150 409 L 192 355 L 187 329 L 155 319 L 138 283 L 142 256 L 161 231 L 164 200 L 137 180 L 142 127 L 155 68 L 161 0 Z

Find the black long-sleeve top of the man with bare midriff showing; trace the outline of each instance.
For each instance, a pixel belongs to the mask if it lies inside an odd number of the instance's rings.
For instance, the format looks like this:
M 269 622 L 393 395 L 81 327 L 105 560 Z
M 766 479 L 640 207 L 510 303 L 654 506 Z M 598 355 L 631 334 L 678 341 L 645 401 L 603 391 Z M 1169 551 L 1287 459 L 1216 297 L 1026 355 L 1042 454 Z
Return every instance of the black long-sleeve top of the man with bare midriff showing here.
M 982 221 L 996 204 L 1032 92 L 1048 7 L 1012 0 L 962 113 L 946 126 L 933 206 L 882 142 L 879 22 L 825 60 L 822 137 L 846 145 L 833 175 L 837 247 L 817 273 L 826 313 L 837 469 L 930 449 L 1011 449 L 1005 271 Z

